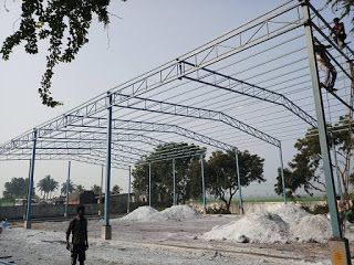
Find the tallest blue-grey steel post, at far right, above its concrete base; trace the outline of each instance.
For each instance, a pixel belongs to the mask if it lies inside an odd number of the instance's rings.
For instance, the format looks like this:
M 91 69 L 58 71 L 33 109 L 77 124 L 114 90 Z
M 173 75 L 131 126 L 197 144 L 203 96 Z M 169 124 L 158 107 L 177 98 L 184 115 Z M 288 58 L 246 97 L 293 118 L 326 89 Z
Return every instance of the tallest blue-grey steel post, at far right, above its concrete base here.
M 326 195 L 327 203 L 331 214 L 331 226 L 332 226 L 332 235 L 334 239 L 342 239 L 341 223 L 337 212 L 336 198 L 335 198 L 335 188 L 333 181 L 333 171 L 331 168 L 331 156 L 330 148 L 327 142 L 327 129 L 323 109 L 323 100 L 322 93 L 320 87 L 320 77 L 317 72 L 317 63 L 315 59 L 314 52 L 314 43 L 313 43 L 313 32 L 311 26 L 311 14 L 309 9 L 309 0 L 302 0 L 302 10 L 304 17 L 304 26 L 305 26 L 305 36 L 308 42 L 308 51 L 309 51 L 309 63 L 311 71 L 311 80 L 312 80 L 312 88 L 313 88 L 313 97 L 316 109 L 317 117 L 317 128 L 319 128 L 319 138 L 320 138 L 320 147 L 321 155 L 323 159 L 323 170 L 325 177 L 325 186 L 326 186 Z

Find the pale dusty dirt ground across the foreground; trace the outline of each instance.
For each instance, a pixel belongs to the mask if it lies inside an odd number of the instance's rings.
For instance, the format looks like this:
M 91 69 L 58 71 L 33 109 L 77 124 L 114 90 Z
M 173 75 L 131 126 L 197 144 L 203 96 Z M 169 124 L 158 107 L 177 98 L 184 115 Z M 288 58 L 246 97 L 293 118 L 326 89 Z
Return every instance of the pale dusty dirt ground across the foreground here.
M 101 240 L 100 221 L 90 221 L 85 264 L 331 264 L 326 244 L 240 244 L 199 239 L 215 225 L 236 219 L 207 215 L 194 221 L 149 223 L 112 220 L 112 241 Z M 67 222 L 43 222 L 33 224 L 32 230 L 4 231 L 0 234 L 0 257 L 8 256 L 7 261 L 18 265 L 70 264 L 66 226 Z

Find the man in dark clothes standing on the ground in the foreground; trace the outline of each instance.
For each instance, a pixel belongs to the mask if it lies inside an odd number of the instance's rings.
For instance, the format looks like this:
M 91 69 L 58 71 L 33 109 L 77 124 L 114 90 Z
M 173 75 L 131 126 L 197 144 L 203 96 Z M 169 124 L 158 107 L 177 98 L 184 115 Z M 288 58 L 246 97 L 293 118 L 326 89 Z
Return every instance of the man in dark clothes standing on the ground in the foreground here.
M 66 231 L 66 250 L 71 251 L 71 264 L 75 265 L 79 257 L 80 265 L 84 265 L 86 259 L 85 251 L 88 250 L 87 220 L 84 218 L 85 208 L 77 206 L 77 215 L 70 222 Z M 72 234 L 72 244 L 69 243 Z

